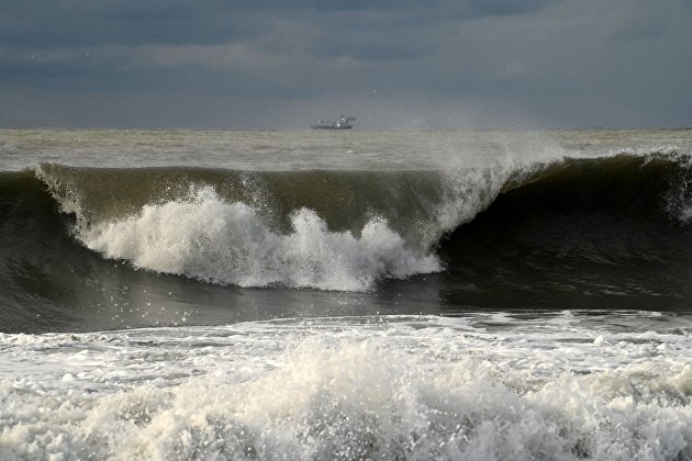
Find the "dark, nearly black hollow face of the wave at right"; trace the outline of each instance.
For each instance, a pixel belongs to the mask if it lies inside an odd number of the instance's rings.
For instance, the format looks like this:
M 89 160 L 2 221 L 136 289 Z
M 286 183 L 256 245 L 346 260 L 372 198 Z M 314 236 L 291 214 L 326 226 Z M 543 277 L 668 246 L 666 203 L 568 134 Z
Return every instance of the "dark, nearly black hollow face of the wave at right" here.
M 683 307 L 692 261 L 687 157 L 565 159 L 510 182 L 442 243 L 451 291 L 563 307 Z M 473 297 L 473 296 L 472 296 Z

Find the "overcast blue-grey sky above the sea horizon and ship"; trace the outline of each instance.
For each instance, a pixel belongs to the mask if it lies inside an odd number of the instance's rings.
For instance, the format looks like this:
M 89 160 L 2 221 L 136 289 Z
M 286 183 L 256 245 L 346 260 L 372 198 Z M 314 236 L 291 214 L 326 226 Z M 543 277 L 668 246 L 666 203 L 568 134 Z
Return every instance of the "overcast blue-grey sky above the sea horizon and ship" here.
M 0 125 L 692 125 L 692 0 L 0 0 Z

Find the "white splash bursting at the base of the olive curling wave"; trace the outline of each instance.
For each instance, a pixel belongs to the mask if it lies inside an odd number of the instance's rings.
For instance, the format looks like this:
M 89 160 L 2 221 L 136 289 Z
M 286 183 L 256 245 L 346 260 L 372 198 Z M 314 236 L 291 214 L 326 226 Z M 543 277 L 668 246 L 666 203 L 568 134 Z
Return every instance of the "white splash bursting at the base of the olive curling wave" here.
M 331 232 L 314 211 L 291 215 L 280 234 L 244 203 L 225 203 L 203 188 L 187 200 L 150 204 L 136 216 L 79 229 L 89 248 L 139 268 L 241 286 L 281 284 L 362 291 L 382 278 L 440 270 L 433 255 L 418 255 L 382 218 L 360 238 Z

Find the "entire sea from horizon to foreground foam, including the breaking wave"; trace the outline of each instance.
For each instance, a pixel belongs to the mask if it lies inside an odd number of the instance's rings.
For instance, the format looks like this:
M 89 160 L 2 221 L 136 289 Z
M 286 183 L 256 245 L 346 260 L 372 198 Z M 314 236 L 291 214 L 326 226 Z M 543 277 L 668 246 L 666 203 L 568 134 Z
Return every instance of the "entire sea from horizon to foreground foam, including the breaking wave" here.
M 0 459 L 692 459 L 692 130 L 0 130 Z

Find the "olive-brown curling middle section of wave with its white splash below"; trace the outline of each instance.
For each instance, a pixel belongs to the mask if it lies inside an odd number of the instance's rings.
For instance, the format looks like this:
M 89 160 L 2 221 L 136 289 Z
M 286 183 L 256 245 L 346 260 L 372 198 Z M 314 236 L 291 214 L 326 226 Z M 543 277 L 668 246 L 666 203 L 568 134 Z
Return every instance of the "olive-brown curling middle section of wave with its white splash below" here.
M 489 175 L 36 171 L 75 215 L 76 238 L 108 258 L 222 284 L 346 291 L 439 271 L 431 247 L 496 193 L 501 182 L 487 184 Z

